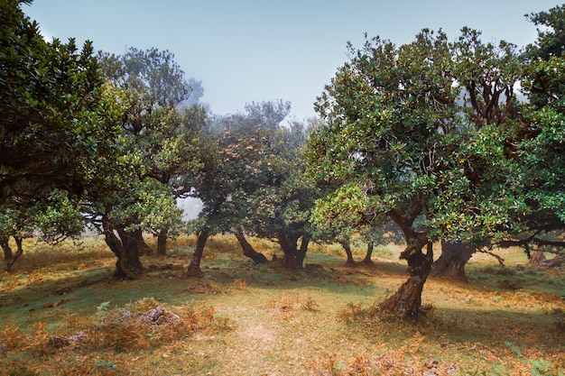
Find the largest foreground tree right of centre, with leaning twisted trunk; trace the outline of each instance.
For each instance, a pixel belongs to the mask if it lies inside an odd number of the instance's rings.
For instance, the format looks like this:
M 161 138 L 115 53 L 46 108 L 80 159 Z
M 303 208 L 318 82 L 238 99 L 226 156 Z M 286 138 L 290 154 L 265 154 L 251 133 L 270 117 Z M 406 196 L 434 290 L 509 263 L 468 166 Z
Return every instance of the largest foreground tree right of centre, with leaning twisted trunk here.
M 504 158 L 505 133 L 479 127 L 458 101 L 445 33 L 423 30 L 400 47 L 375 38 L 349 51 L 317 102 L 325 124 L 310 139 L 310 173 L 319 184 L 338 181 L 319 206 L 348 201 L 368 221 L 384 215 L 400 227 L 410 277 L 380 308 L 418 316 L 434 241 L 496 242 L 510 230 L 523 203 L 500 192 L 515 166 Z

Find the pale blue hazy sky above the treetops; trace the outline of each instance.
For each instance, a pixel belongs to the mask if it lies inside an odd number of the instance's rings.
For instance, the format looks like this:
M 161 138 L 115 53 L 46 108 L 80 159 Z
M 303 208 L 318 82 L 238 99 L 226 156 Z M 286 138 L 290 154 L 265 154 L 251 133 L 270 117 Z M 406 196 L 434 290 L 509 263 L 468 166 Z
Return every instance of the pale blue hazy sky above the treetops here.
M 245 104 L 290 101 L 291 118 L 315 116 L 314 102 L 347 61 L 347 41 L 365 34 L 401 45 L 422 28 L 450 40 L 463 26 L 483 41 L 525 46 L 537 32 L 524 14 L 548 11 L 557 0 L 33 0 L 23 11 L 46 39 L 70 37 L 96 50 L 130 47 L 175 55 L 187 78 L 201 81 L 216 115 Z

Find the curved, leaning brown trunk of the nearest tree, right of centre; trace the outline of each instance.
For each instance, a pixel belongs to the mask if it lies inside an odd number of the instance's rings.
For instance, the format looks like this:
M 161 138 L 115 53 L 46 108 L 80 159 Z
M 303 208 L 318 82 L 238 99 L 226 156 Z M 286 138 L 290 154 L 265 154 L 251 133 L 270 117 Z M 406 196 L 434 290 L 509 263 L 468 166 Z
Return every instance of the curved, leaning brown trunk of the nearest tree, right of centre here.
M 421 249 L 427 244 L 427 252 Z M 408 261 L 409 279 L 390 298 L 379 306 L 381 312 L 416 317 L 421 314 L 421 291 L 428 279 L 433 262 L 432 243 L 416 242 L 409 244 L 401 254 Z

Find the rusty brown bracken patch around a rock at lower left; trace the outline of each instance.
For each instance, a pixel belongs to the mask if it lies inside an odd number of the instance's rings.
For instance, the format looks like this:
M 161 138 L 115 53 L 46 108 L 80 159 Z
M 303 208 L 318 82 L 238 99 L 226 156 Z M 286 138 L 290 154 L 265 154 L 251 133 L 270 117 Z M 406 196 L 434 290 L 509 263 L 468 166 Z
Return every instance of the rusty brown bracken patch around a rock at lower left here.
M 77 332 L 78 326 L 82 327 Z M 0 332 L 0 353 L 4 357 L 0 365 L 5 367 L 6 374 L 41 374 L 53 367 L 51 362 L 44 362 L 50 358 L 91 360 L 97 353 L 154 351 L 191 341 L 195 335 L 230 329 L 227 317 L 218 315 L 213 307 L 182 307 L 173 313 L 154 298 L 142 298 L 125 307 L 110 307 L 110 302 L 104 302 L 97 307 L 94 318 L 74 317 L 72 328 L 57 332 L 47 330 L 45 322 L 35 323 L 30 333 L 14 325 L 6 326 Z M 24 368 L 23 360 L 27 364 Z M 96 364 L 83 370 L 84 374 L 97 374 L 104 368 L 117 371 L 115 363 Z

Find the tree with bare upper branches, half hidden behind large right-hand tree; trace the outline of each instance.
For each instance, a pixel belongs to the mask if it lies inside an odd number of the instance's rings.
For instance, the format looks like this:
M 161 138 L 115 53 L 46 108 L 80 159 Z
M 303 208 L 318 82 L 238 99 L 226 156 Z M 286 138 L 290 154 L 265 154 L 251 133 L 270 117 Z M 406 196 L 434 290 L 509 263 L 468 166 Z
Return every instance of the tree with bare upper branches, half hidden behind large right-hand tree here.
M 515 90 L 522 73 L 516 46 L 505 41 L 498 45 L 483 43 L 479 32 L 463 28 L 453 47 L 457 64 L 455 79 L 462 87 L 459 101 L 463 111 L 476 130 L 487 124 L 506 128 L 505 157 L 513 158 L 516 152 L 513 129 L 520 114 Z M 467 281 L 465 265 L 477 249 L 488 244 L 481 239 L 467 243 L 458 239 L 442 241 L 441 255 L 433 264 L 432 275 Z

